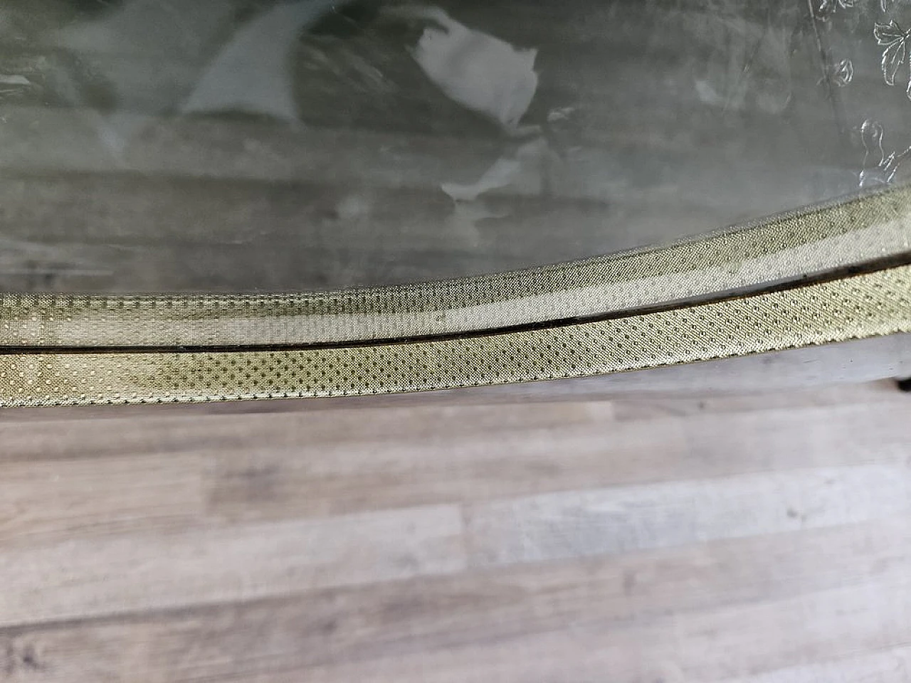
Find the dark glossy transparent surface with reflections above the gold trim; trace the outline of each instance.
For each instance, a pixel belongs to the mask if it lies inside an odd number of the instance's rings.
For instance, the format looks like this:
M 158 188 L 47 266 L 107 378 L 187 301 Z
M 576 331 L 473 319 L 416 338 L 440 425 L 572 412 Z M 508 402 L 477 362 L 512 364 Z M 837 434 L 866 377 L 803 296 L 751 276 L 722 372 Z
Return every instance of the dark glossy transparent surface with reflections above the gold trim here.
M 911 5 L 8 0 L 0 287 L 297 291 L 902 178 Z

